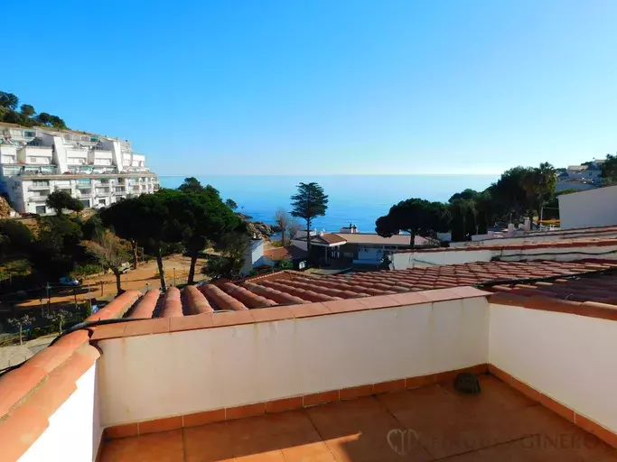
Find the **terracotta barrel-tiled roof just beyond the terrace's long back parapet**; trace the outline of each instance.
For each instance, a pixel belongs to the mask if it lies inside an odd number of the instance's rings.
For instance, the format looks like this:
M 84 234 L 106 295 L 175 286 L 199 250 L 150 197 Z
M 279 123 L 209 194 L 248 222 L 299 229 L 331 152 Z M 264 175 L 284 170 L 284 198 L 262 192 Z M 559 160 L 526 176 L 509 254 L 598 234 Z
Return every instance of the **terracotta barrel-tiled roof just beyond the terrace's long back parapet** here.
M 356 299 L 377 295 L 396 295 L 411 291 L 430 291 L 453 287 L 469 286 L 486 282 L 572 277 L 580 273 L 598 273 L 617 268 L 617 262 L 609 260 L 581 260 L 576 262 L 555 262 L 538 260 L 534 262 L 488 262 L 463 263 L 450 265 L 435 265 L 409 270 L 379 271 L 371 273 L 349 273 L 332 276 L 311 276 L 306 273 L 285 271 L 249 278 L 244 282 L 218 282 L 195 287 L 186 287 L 179 291 L 170 288 L 164 297 L 158 301 L 160 309 L 158 316 L 172 318 L 182 315 L 207 313 L 219 310 L 250 310 L 276 305 L 297 305 L 312 302 Z M 595 275 L 598 282 L 592 285 L 606 287 L 606 281 L 613 276 L 609 274 Z M 548 291 L 553 288 L 556 295 L 573 299 L 574 291 L 578 291 L 576 300 L 612 300 L 607 293 L 591 293 L 584 290 L 585 284 L 595 281 L 585 277 L 569 281 L 556 279 L 556 282 L 536 282 L 538 291 Z M 565 283 L 564 281 L 567 281 Z M 617 282 L 617 277 L 614 277 Z M 526 282 L 526 281 L 523 281 Z M 594 285 L 595 284 L 595 285 Z M 506 291 L 503 285 L 493 291 Z M 517 286 L 519 289 L 529 289 L 528 285 Z M 524 291 L 514 290 L 513 293 Z M 158 291 L 150 291 L 128 313 L 130 318 L 149 318 L 156 314 Z M 534 294 L 537 294 L 534 292 Z M 597 297 L 596 297 L 597 296 Z M 617 303 L 617 284 L 614 300 Z

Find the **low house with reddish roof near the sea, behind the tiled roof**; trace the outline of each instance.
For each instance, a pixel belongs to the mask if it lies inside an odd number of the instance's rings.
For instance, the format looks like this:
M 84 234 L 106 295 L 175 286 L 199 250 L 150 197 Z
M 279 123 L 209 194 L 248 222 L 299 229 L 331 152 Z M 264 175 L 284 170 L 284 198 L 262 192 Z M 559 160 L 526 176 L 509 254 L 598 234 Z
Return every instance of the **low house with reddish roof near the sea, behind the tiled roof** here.
M 325 231 L 318 233 L 315 230 L 311 235 L 311 252 L 325 264 L 376 265 L 381 263 L 384 257 L 398 250 L 407 249 L 411 240 L 409 235 L 382 237 L 375 233 L 360 233 L 358 227 L 353 225 L 341 227 L 338 233 L 326 233 Z M 292 242 L 306 249 L 306 232 L 296 236 Z M 415 246 L 435 247 L 439 246 L 439 242 L 416 236 Z

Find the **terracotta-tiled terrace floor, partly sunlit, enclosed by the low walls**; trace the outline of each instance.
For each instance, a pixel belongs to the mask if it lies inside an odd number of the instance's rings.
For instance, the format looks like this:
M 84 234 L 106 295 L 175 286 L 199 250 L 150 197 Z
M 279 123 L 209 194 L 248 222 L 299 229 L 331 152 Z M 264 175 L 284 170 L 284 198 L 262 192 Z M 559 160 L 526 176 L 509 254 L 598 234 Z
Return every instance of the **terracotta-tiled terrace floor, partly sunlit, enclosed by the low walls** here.
M 201 427 L 112 439 L 101 461 L 617 461 L 617 451 L 491 375 Z

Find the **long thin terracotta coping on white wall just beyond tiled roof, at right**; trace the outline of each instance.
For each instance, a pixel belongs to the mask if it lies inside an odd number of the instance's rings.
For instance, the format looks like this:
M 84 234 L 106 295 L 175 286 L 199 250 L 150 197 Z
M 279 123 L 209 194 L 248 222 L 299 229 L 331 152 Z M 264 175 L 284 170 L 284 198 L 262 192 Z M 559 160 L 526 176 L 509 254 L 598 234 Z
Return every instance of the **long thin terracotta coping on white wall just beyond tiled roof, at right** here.
M 494 241 L 494 244 L 492 243 Z M 487 242 L 487 241 L 482 241 Z M 407 249 L 395 252 L 395 254 L 409 254 L 413 252 L 462 252 L 473 250 L 533 250 L 533 249 L 559 249 L 571 247 L 604 247 L 617 245 L 617 237 L 578 237 L 571 239 L 556 239 L 552 241 L 520 242 L 500 244 L 499 239 L 490 239 L 491 244 L 465 245 L 461 247 L 439 247 L 435 249 Z

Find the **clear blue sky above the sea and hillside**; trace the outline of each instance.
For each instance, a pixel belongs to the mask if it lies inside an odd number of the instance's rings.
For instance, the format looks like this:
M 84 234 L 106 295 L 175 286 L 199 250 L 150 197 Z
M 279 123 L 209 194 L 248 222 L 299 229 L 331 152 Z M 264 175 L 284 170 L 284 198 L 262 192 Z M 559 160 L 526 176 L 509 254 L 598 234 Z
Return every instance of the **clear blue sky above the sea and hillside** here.
M 0 89 L 165 174 L 494 173 L 617 151 L 614 0 L 20 2 Z

